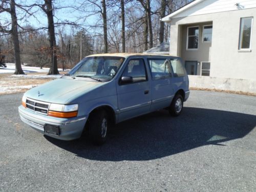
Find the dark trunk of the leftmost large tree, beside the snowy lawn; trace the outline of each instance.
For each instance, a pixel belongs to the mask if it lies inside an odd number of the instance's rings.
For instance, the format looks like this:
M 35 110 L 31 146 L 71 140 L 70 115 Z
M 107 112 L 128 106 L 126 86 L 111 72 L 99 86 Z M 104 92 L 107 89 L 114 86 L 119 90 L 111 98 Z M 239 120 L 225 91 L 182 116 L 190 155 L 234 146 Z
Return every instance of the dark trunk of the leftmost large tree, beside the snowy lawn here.
M 14 57 L 15 57 L 15 75 L 24 74 L 22 70 L 22 63 L 20 62 L 20 51 L 19 51 L 19 40 L 18 40 L 18 24 L 17 16 L 15 11 L 15 1 L 10 1 L 10 13 L 12 18 L 12 42 L 14 47 Z

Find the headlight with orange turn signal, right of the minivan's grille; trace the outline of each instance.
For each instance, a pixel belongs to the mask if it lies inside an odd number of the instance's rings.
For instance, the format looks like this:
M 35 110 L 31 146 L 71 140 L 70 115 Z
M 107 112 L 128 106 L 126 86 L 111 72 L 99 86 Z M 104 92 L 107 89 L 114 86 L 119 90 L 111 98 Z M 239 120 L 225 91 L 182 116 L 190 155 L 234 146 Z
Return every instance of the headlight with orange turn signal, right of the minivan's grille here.
M 48 115 L 59 118 L 76 117 L 78 113 L 78 104 L 55 104 L 51 103 Z

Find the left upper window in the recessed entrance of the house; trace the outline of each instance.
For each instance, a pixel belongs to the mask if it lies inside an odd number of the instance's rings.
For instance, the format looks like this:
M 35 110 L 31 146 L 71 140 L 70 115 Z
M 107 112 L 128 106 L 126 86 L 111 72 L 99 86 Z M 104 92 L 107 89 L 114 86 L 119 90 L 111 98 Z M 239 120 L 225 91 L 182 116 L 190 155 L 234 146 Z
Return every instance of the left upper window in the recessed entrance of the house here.
M 199 27 L 187 28 L 187 49 L 198 49 Z

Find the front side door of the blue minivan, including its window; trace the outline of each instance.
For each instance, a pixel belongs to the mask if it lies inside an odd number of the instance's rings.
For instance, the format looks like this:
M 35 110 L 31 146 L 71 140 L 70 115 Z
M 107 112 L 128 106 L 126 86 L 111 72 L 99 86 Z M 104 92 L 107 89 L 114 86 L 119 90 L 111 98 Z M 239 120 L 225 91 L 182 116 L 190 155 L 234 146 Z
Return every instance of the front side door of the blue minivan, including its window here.
M 147 72 L 143 58 L 131 58 L 127 61 L 117 82 L 119 122 L 146 114 L 150 110 L 151 93 Z M 123 83 L 122 77 L 132 77 L 133 80 Z

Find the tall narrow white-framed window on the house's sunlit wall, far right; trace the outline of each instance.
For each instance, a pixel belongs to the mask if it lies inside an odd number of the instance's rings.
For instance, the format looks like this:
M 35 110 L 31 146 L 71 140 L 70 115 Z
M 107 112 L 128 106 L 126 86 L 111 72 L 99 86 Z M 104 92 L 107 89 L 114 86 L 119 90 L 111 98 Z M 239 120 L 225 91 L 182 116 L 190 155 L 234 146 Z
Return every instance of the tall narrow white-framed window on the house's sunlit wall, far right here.
M 252 17 L 241 18 L 239 49 L 250 49 L 252 31 Z

